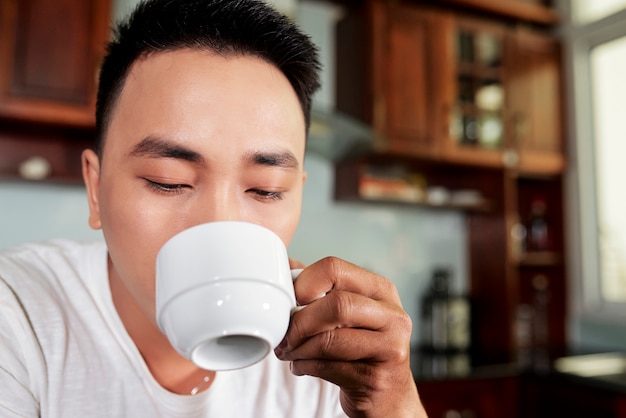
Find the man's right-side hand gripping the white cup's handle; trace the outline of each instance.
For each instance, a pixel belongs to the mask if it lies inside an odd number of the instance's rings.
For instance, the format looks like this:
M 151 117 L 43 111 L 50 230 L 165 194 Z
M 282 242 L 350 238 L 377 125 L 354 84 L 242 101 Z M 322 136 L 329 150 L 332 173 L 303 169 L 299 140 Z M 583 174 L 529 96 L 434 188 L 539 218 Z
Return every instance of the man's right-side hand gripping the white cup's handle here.
M 426 417 L 410 368 L 411 319 L 389 280 L 329 257 L 294 286 L 307 306 L 275 350 L 292 373 L 338 385 L 352 417 Z

